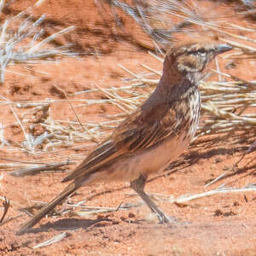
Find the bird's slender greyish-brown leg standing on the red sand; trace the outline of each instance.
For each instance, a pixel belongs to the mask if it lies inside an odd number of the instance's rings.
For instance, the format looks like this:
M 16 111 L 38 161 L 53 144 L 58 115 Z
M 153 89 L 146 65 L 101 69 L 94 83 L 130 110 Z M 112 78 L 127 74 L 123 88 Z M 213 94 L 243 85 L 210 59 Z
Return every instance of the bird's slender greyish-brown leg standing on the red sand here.
M 160 220 L 161 224 L 164 223 L 170 223 L 170 222 L 175 222 L 174 219 L 166 216 L 164 212 L 162 212 L 155 204 L 154 201 L 150 199 L 150 197 L 144 192 L 144 187 L 146 184 L 147 177 L 141 175 L 138 177 L 136 180 L 132 181 L 130 183 L 131 189 L 134 189 L 137 192 L 137 195 L 139 195 L 143 201 L 147 204 L 149 209 L 157 214 L 157 217 Z

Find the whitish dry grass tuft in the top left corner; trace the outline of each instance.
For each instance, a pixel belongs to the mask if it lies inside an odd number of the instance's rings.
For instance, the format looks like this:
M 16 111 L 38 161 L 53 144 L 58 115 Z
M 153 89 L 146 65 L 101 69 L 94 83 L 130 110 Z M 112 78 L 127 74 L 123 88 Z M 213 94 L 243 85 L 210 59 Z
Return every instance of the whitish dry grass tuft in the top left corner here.
M 42 39 L 44 30 L 40 25 L 45 15 L 33 21 L 32 11 L 43 3 L 39 0 L 32 7 L 23 10 L 18 15 L 3 20 L 0 26 L 0 82 L 4 82 L 4 74 L 9 65 L 17 63 L 37 63 L 37 61 L 49 61 L 63 55 L 74 55 L 68 45 L 64 47 L 49 47 L 49 42 L 58 36 L 70 32 L 74 26 L 67 27 L 60 32 Z M 0 13 L 5 1 L 0 1 Z

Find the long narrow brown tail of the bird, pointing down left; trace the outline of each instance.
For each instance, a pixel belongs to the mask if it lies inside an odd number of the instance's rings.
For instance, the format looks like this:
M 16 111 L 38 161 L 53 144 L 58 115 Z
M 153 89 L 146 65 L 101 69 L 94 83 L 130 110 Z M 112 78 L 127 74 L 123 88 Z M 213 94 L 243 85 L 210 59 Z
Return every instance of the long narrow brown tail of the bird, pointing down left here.
M 32 219 L 30 219 L 26 224 L 24 224 L 21 229 L 17 232 L 17 235 L 21 235 L 26 232 L 26 230 L 32 228 L 33 225 L 37 224 L 41 218 L 54 209 L 55 206 L 61 203 L 68 195 L 72 194 L 76 189 L 78 189 L 78 184 L 71 183 L 64 189 L 60 195 L 56 196 L 55 199 L 50 201 L 45 207 L 43 207 Z

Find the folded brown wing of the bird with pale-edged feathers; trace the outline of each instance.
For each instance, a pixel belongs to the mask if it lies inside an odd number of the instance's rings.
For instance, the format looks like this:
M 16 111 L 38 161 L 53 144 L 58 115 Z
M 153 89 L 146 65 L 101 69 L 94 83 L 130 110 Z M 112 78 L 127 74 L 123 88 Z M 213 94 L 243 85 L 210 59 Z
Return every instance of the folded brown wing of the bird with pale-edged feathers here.
M 150 148 L 166 137 L 174 136 L 177 131 L 175 112 L 167 108 L 166 110 L 165 108 L 158 109 L 151 109 L 151 115 L 150 113 L 142 115 L 141 108 L 131 113 L 113 132 L 113 135 L 90 153 L 62 182 L 96 172 L 102 169 L 102 166 L 111 164 L 118 158 Z

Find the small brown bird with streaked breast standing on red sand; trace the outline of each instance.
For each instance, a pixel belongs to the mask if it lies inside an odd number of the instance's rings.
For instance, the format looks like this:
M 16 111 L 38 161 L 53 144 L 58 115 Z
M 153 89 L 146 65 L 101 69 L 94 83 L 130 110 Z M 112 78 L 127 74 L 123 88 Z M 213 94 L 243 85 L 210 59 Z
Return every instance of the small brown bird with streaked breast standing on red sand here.
M 19 234 L 37 224 L 76 189 L 113 180 L 129 181 L 131 188 L 157 214 L 160 223 L 170 222 L 171 218 L 144 192 L 147 177 L 165 169 L 195 136 L 201 108 L 198 84 L 202 72 L 216 55 L 230 49 L 228 44 L 211 41 L 174 46 L 166 54 L 163 75 L 153 94 L 64 178 L 63 182 L 72 183 L 22 226 Z

